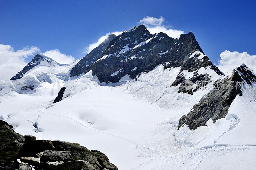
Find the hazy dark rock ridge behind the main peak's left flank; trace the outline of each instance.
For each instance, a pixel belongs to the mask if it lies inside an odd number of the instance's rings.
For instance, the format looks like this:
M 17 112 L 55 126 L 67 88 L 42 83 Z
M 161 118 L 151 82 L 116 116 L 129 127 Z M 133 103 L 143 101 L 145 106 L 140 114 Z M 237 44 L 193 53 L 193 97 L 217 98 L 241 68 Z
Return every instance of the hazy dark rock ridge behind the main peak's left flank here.
M 115 34 L 108 35 L 108 38 L 104 40 L 100 45 L 94 48 L 90 53 L 84 56 L 71 70 L 70 77 L 79 76 L 82 73 L 87 72 L 87 68 L 97 61 L 104 53 L 109 45 L 109 42 L 116 37 Z

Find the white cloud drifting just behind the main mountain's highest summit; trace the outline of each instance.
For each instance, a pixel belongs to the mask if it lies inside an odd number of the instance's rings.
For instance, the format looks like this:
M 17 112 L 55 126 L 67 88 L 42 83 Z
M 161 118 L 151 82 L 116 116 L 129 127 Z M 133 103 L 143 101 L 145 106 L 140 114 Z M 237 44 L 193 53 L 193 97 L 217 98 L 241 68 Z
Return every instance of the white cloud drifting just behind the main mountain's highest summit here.
M 138 23 L 143 24 L 147 27 L 148 31 L 152 34 L 154 33 L 166 33 L 172 38 L 180 38 L 180 34 L 184 33 L 184 31 L 176 30 L 176 29 L 168 29 L 169 26 L 164 25 L 165 18 L 154 18 L 147 16 L 146 18 L 141 19 Z

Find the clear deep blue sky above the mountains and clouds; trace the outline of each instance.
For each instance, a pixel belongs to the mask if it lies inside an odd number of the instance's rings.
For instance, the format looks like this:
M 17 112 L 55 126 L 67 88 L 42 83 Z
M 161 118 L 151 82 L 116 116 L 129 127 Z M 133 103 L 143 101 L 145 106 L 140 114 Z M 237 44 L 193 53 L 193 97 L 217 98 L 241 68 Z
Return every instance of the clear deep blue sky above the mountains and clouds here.
M 14 51 L 35 46 L 78 59 L 108 32 L 124 31 L 147 16 L 164 26 L 192 31 L 213 63 L 220 53 L 256 55 L 256 1 L 3 1 L 0 44 Z M 25 62 L 31 60 L 25 58 Z

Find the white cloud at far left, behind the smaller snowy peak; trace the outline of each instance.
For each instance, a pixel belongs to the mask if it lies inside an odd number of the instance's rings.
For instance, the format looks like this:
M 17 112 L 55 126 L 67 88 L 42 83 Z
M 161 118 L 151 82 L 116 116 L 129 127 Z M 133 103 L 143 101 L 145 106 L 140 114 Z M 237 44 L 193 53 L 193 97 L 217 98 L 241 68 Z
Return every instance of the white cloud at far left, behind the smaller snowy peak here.
M 27 64 L 24 61 L 25 58 L 34 56 L 39 51 L 37 47 L 25 47 L 14 51 L 10 45 L 0 44 L 0 79 L 12 78 Z

